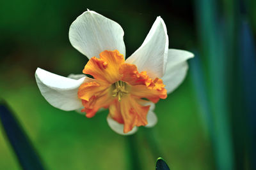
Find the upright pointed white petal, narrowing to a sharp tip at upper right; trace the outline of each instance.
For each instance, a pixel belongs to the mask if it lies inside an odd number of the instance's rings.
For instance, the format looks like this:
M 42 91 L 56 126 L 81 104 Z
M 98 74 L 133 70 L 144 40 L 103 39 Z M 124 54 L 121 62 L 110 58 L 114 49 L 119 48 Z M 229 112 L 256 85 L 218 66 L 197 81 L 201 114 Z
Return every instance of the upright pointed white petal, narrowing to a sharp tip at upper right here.
M 168 45 L 166 25 L 161 17 L 157 17 L 143 44 L 126 62 L 135 64 L 140 72 L 147 71 L 150 78 L 162 77 L 166 69 Z

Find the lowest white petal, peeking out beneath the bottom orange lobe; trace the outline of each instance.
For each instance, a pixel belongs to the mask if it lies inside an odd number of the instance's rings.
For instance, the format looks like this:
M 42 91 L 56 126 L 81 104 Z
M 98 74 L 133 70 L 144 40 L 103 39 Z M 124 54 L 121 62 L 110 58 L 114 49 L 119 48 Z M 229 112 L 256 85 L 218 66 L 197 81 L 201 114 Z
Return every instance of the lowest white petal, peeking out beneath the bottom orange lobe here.
M 130 132 L 124 133 L 124 124 L 119 124 L 109 116 L 107 117 L 107 122 L 109 127 L 118 134 L 131 135 L 138 131 L 138 127 L 134 127 Z

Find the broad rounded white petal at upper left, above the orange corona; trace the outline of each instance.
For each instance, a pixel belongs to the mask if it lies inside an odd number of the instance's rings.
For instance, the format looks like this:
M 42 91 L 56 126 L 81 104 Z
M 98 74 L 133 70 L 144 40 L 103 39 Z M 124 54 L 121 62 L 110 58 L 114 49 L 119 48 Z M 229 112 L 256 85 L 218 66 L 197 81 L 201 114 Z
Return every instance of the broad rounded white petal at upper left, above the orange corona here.
M 115 21 L 95 11 L 85 11 L 70 25 L 70 43 L 89 59 L 104 50 L 118 50 L 125 56 L 124 31 Z

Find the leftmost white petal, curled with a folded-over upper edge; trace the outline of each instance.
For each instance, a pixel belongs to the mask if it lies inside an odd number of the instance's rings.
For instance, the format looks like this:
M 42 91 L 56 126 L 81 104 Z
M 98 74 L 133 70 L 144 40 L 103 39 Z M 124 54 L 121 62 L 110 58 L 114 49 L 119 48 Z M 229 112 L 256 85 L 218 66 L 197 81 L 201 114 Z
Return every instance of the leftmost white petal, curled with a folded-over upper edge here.
M 86 77 L 74 80 L 40 68 L 36 69 L 35 77 L 42 96 L 52 106 L 65 111 L 83 107 L 81 99 L 77 97 L 77 90 Z

